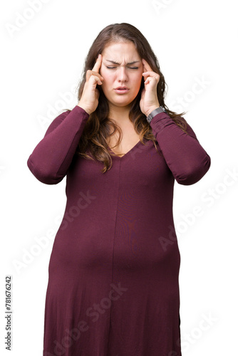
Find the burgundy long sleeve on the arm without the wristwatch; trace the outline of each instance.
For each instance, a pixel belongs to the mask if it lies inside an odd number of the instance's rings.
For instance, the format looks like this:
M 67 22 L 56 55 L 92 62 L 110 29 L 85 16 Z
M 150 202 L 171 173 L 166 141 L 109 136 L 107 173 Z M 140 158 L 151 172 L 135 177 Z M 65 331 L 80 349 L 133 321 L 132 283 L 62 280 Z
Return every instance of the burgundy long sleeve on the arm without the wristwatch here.
M 51 122 L 27 161 L 40 182 L 57 184 L 66 176 L 88 117 L 88 112 L 76 105 Z

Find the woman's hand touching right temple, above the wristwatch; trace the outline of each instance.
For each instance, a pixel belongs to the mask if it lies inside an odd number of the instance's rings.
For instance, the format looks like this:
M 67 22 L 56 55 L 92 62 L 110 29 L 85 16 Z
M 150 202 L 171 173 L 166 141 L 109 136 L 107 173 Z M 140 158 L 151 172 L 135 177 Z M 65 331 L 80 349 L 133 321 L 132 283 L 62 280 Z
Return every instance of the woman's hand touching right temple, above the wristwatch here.
M 160 81 L 160 75 L 152 71 L 145 59 L 142 59 L 142 63 L 145 88 L 141 92 L 140 110 L 148 116 L 150 112 L 160 107 L 157 98 L 157 83 Z

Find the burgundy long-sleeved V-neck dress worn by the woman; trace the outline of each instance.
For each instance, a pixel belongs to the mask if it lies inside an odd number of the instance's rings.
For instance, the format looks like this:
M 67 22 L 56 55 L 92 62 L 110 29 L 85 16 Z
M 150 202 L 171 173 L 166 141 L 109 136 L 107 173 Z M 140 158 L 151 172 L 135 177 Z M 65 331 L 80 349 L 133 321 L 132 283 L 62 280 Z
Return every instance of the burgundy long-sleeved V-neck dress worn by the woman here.
M 198 182 L 210 157 L 190 125 L 187 135 L 161 112 L 150 122 L 160 152 L 144 139 L 102 173 L 102 162 L 76 155 L 88 117 L 78 105 L 56 117 L 27 162 L 45 184 L 67 177 L 43 356 L 180 356 L 173 188 Z

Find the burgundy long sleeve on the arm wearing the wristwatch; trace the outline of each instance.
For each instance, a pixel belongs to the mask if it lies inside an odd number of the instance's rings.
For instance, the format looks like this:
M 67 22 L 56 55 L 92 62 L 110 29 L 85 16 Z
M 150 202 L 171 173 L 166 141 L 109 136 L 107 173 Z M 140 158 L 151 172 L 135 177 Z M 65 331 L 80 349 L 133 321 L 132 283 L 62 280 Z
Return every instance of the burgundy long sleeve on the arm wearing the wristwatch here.
M 207 173 L 211 159 L 190 125 L 187 124 L 188 133 L 185 133 L 166 112 L 160 112 L 152 118 L 150 126 L 179 184 L 195 184 Z

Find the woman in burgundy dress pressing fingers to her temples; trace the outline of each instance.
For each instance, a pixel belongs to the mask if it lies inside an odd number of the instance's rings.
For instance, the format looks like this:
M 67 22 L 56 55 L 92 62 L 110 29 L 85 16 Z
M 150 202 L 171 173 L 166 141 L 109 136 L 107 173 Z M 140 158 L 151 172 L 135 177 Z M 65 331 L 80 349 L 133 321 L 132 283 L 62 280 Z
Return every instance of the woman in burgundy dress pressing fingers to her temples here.
M 78 105 L 28 159 L 46 184 L 66 179 L 48 268 L 43 356 L 178 356 L 180 252 L 175 179 L 195 184 L 210 157 L 137 28 L 114 23 L 88 52 Z

